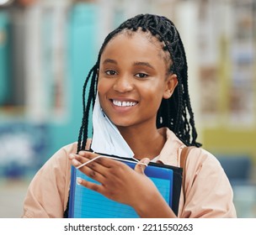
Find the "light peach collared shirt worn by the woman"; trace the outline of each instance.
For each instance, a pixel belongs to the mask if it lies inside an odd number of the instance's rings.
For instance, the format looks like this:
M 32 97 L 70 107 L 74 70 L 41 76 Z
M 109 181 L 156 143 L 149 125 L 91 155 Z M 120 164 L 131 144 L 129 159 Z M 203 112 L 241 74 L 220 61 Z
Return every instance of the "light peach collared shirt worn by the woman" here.
M 167 141 L 155 160 L 179 166 L 184 144 L 168 128 L 161 131 L 166 134 Z M 63 217 L 71 177 L 68 155 L 76 151 L 77 143 L 61 148 L 37 172 L 24 199 L 22 217 Z M 237 217 L 232 187 L 212 154 L 205 149 L 192 149 L 185 170 L 185 191 L 180 195 L 179 217 Z

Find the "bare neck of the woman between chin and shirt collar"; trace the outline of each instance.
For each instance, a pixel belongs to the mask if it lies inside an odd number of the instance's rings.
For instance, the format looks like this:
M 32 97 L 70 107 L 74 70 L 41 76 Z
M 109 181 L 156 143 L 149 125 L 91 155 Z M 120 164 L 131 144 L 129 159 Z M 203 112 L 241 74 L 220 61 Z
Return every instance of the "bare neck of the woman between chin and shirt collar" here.
M 166 141 L 165 134 L 154 128 L 118 127 L 126 143 L 130 146 L 136 159 L 153 159 L 160 154 Z

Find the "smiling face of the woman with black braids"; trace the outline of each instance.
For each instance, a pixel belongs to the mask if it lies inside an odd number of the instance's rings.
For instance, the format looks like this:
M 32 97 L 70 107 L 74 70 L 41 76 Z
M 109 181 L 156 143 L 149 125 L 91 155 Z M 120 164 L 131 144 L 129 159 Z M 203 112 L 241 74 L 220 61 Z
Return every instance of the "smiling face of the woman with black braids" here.
M 117 128 L 155 127 L 162 99 L 177 85 L 160 42 L 146 34 L 118 34 L 101 55 L 99 102 Z

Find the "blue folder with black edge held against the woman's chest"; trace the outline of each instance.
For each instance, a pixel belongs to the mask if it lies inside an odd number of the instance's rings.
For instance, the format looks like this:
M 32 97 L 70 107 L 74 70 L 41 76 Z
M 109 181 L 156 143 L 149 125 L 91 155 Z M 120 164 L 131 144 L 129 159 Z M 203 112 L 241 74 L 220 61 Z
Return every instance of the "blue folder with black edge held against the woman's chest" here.
M 134 169 L 136 162 L 127 162 L 125 158 L 120 158 L 120 161 L 128 164 Z M 129 159 L 131 160 L 131 159 Z M 145 174 L 150 177 L 153 183 L 157 186 L 158 191 L 162 194 L 168 205 L 175 209 L 177 205 L 173 206 L 173 180 L 175 175 L 177 176 L 177 170 L 179 175 L 181 171 L 178 168 L 167 166 L 163 164 L 150 163 Z M 176 173 L 176 174 L 175 174 Z M 68 217 L 71 218 L 136 218 L 138 215 L 136 211 L 131 207 L 120 202 L 112 201 L 109 198 L 101 195 L 99 192 L 89 190 L 83 185 L 77 185 L 77 177 L 84 180 L 96 182 L 87 175 L 84 175 L 80 170 L 77 170 L 72 166 L 72 179 L 69 198 L 69 211 Z M 180 184 L 179 184 L 180 187 Z M 179 189 L 178 187 L 178 189 Z M 176 187 L 177 188 L 177 187 Z M 179 190 L 178 190 L 179 191 Z M 180 193 L 180 191 L 178 192 Z M 177 191 L 175 191 L 177 195 Z M 176 196 L 177 197 L 177 196 Z M 177 199 L 174 200 L 177 204 Z M 179 202 L 179 200 L 178 200 Z M 175 207 L 175 208 L 174 208 Z M 177 210 L 176 214 L 177 214 Z M 175 212 L 174 211 L 174 212 Z

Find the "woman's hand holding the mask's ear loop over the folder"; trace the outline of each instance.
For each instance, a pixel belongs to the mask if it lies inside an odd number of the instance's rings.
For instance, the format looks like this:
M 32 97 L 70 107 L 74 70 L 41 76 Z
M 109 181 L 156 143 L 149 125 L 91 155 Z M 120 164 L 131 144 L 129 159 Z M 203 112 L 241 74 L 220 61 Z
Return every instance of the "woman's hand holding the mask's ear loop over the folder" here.
M 72 165 L 78 167 L 98 156 L 99 154 L 80 151 L 79 154 L 72 154 L 70 159 Z M 83 174 L 100 184 L 83 179 L 78 179 L 77 183 L 98 191 L 111 200 L 132 206 L 141 217 L 157 217 L 155 212 L 159 211 L 161 204 L 166 207 L 163 211 L 172 210 L 164 201 L 156 185 L 144 174 L 149 161 L 149 159 L 141 159 L 142 164 L 136 164 L 135 169 L 132 170 L 130 166 L 118 160 L 101 157 L 79 168 Z M 157 201 L 161 203 L 156 204 Z M 156 208 L 152 208 L 154 204 Z M 162 214 L 162 211 L 159 212 Z M 160 217 L 169 217 L 169 214 L 164 215 Z

